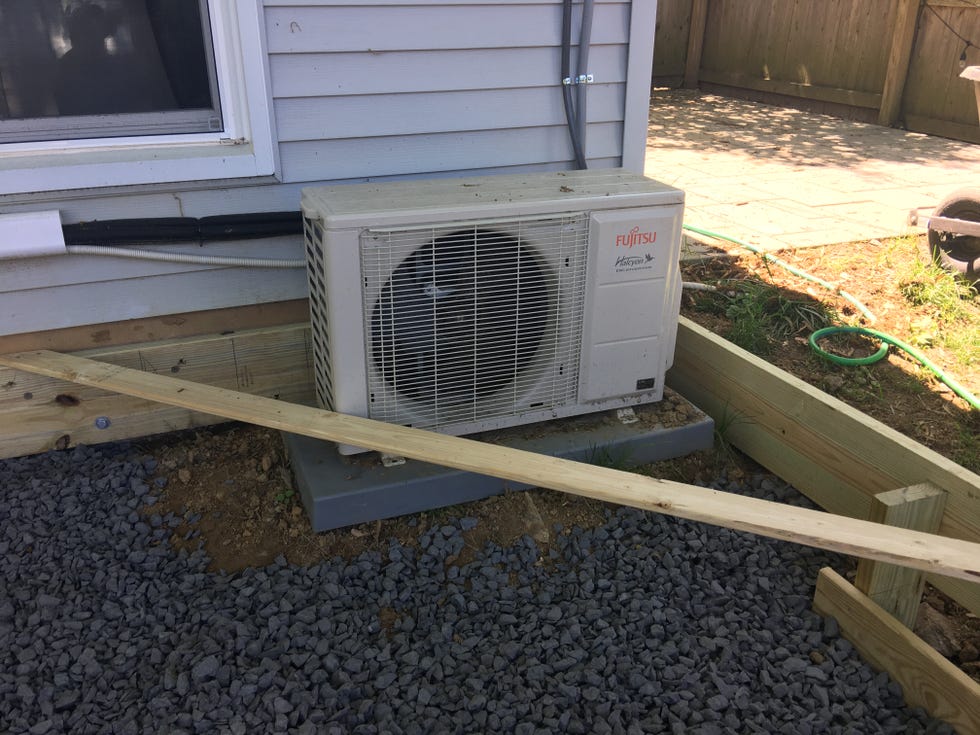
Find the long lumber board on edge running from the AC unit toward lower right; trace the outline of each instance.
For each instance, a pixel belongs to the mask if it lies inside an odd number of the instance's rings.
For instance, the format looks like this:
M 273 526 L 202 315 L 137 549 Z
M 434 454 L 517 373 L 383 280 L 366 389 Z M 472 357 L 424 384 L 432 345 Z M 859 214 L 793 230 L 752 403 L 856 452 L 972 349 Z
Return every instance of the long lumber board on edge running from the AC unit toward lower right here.
M 866 518 L 870 496 L 931 482 L 948 493 L 940 533 L 980 541 L 980 477 L 685 317 L 667 384 L 826 510 Z M 927 581 L 980 614 L 980 585 Z

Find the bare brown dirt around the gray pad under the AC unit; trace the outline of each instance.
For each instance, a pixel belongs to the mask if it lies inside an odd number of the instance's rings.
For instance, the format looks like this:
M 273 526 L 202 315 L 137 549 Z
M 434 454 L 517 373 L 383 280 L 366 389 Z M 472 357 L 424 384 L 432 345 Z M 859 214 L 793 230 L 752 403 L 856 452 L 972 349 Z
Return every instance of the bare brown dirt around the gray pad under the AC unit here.
M 690 404 L 668 390 L 661 403 L 638 412 L 638 416 L 644 425 L 670 427 L 688 423 L 692 412 Z M 521 431 L 534 436 L 544 429 L 531 425 Z M 492 442 L 499 437 L 489 434 L 483 438 Z M 365 551 L 384 552 L 391 539 L 413 546 L 428 529 L 466 517 L 477 523 L 464 531 L 466 548 L 460 563 L 487 543 L 507 546 L 524 534 L 534 538 L 546 554 L 555 533 L 575 526 L 594 527 L 606 519 L 606 505 L 589 498 L 547 491 L 506 492 L 474 503 L 313 533 L 278 432 L 224 424 L 170 434 L 144 444 L 158 460 L 156 481 L 164 485 L 160 500 L 144 513 L 161 518 L 172 513 L 181 522 L 173 529 L 171 543 L 187 551 L 203 546 L 213 570 L 235 572 L 264 566 L 280 555 L 295 564 L 336 556 L 349 559 Z M 627 461 L 602 452 L 597 452 L 594 460 L 596 464 Z M 378 458 L 371 454 L 352 461 L 377 462 Z M 662 470 L 646 467 L 642 471 L 666 472 L 677 480 L 690 480 L 695 475 L 710 480 L 719 463 L 733 462 L 732 456 L 704 452 L 658 463 Z M 692 474 L 691 468 L 699 469 Z

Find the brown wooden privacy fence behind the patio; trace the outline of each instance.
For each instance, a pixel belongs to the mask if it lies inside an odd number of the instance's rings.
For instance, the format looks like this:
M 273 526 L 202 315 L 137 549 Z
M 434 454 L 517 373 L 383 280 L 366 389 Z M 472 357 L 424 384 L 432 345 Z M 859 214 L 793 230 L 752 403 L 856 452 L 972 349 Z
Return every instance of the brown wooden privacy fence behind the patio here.
M 965 58 L 964 58 L 965 57 Z M 980 0 L 660 0 L 654 83 L 980 143 Z

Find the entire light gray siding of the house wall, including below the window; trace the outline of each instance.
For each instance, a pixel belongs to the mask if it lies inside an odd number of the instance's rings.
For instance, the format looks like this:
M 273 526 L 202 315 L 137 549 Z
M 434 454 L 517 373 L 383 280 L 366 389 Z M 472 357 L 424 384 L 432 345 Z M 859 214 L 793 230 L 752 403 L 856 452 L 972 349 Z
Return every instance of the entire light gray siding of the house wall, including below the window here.
M 574 8 L 577 41 L 581 3 Z M 655 11 L 655 0 L 595 4 L 590 167 L 622 165 L 624 145 L 631 165 L 642 165 Z M 300 189 L 311 184 L 571 168 L 559 85 L 561 12 L 560 0 L 264 0 L 279 181 L 216 176 L 0 196 L 0 213 L 58 209 L 69 223 L 298 210 Z M 573 68 L 575 57 L 573 49 Z M 299 238 L 207 251 L 303 257 Z M 0 275 L 0 309 L 12 313 L 7 305 L 16 304 L 18 312 L 2 333 L 306 294 L 302 271 L 175 270 L 80 257 L 27 265 L 29 278 Z M 79 304 L 99 306 L 88 312 Z

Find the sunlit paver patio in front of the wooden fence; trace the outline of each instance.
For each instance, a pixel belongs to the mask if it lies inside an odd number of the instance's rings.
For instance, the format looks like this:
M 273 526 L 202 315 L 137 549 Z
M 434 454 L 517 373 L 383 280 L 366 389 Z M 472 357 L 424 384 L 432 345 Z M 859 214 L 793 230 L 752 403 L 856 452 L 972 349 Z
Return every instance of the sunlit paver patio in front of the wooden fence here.
M 923 231 L 909 210 L 980 186 L 980 145 L 657 90 L 645 173 L 686 192 L 686 223 L 779 250 Z

